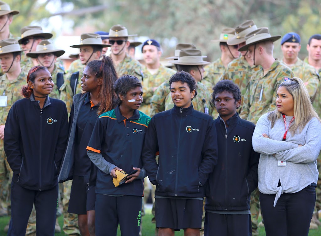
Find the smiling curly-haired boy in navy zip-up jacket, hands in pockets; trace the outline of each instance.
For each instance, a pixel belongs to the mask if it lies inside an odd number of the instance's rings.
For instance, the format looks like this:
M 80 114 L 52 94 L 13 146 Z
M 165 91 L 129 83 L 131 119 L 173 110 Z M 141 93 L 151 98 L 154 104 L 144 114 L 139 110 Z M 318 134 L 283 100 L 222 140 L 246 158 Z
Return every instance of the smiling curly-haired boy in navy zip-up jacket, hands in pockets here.
M 209 115 L 193 109 L 191 101 L 197 92 L 190 74 L 177 72 L 169 85 L 174 107 L 151 119 L 143 147 L 143 166 L 156 185 L 159 235 L 174 235 L 174 230 L 180 229 L 188 235 L 199 235 L 203 185 L 217 162 L 216 130 Z

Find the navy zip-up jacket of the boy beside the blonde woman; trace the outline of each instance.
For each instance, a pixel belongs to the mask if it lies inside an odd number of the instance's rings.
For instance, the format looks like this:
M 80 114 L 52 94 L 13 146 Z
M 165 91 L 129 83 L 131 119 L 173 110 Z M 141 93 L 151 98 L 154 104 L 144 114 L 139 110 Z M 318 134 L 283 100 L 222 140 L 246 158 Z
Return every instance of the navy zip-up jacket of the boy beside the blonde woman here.
M 205 210 L 250 209 L 250 195 L 257 187 L 260 154 L 252 147 L 255 125 L 238 113 L 227 121 L 214 120 L 217 131 L 218 162 L 205 184 Z

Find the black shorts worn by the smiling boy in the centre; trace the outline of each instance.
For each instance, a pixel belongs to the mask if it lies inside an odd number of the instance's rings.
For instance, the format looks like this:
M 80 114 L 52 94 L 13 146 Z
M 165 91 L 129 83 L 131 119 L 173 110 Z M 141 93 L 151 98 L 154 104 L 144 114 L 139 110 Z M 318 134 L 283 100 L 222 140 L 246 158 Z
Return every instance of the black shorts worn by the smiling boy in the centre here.
M 197 199 L 155 198 L 156 227 L 176 231 L 202 228 L 203 201 Z

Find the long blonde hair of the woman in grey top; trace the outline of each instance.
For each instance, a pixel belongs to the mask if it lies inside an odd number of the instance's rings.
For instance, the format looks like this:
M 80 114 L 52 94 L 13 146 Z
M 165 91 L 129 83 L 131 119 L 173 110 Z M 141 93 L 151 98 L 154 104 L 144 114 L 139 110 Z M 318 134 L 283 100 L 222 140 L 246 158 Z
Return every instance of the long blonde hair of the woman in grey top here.
M 301 132 L 304 126 L 307 125 L 310 119 L 316 117 L 320 123 L 321 120 L 314 110 L 310 96 L 308 94 L 308 90 L 306 89 L 303 81 L 297 77 L 293 77 L 292 79 L 283 81 L 279 87 L 285 87 L 286 90 L 292 95 L 294 102 L 294 117 L 295 122 L 290 126 L 289 131 L 291 134 L 294 134 L 295 131 L 299 128 L 299 132 Z M 271 111 L 268 115 L 268 119 L 271 121 L 271 126 L 273 127 L 275 121 L 281 117 L 281 112 L 277 109 Z

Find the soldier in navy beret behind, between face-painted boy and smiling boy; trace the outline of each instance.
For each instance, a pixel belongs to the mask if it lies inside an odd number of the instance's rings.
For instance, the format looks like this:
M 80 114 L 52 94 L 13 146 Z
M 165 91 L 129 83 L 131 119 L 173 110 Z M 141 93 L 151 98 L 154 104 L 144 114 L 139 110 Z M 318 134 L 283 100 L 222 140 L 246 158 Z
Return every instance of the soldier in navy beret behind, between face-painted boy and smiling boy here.
M 142 81 L 144 102 L 139 110 L 149 116 L 151 98 L 156 88 L 165 80 L 168 80 L 176 71 L 160 64 L 161 49 L 160 44 L 155 39 L 144 42 L 142 53 L 146 66 L 143 66 L 144 78 Z

